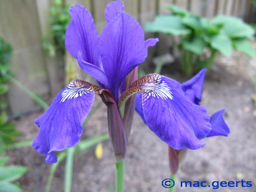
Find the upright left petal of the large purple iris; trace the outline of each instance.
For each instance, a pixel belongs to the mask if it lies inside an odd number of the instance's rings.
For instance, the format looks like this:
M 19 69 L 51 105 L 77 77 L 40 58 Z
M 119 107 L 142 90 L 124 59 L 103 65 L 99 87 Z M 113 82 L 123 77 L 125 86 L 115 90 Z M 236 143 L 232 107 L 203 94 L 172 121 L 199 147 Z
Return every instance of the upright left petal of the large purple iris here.
M 67 50 L 75 58 L 78 57 L 78 51 L 81 51 L 84 61 L 101 68 L 99 35 L 91 13 L 83 6 L 75 5 L 70 7 L 70 16 L 65 40 Z

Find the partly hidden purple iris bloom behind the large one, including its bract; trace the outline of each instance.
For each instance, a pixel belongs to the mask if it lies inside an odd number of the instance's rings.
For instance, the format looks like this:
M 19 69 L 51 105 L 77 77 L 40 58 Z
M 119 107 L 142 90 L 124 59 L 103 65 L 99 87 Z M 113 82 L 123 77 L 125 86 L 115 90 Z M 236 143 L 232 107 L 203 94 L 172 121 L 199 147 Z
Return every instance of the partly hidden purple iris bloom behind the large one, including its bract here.
M 204 76 L 206 73 L 206 69 L 202 69 L 197 75 L 193 78 L 189 79 L 188 81 L 181 84 L 182 90 L 184 91 L 185 95 L 191 102 L 194 102 L 197 105 L 200 105 L 202 100 L 202 92 L 203 92 L 203 83 L 204 83 Z M 211 124 L 211 131 L 208 133 L 206 137 L 212 136 L 228 136 L 230 133 L 229 127 L 223 118 L 223 113 L 225 110 L 220 110 L 211 115 L 210 117 L 210 124 Z M 169 153 L 169 164 L 170 170 L 172 174 L 176 174 L 178 171 L 179 164 L 184 159 L 186 150 L 177 150 L 173 147 L 168 147 Z

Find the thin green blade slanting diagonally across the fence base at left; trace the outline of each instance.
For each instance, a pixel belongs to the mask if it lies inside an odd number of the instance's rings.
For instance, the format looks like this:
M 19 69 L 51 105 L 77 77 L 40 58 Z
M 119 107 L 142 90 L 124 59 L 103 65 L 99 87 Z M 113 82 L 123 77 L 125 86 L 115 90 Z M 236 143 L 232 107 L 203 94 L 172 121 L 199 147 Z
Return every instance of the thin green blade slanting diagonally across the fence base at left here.
M 37 102 L 42 108 L 47 110 L 49 108 L 49 105 L 43 101 L 40 97 L 38 97 L 36 94 L 34 94 L 32 91 L 30 91 L 28 88 L 26 88 L 22 83 L 20 83 L 18 80 L 14 79 L 12 76 L 9 77 L 10 81 L 15 84 L 18 88 L 20 88 L 22 91 L 24 91 L 26 94 L 28 94 L 35 102 Z

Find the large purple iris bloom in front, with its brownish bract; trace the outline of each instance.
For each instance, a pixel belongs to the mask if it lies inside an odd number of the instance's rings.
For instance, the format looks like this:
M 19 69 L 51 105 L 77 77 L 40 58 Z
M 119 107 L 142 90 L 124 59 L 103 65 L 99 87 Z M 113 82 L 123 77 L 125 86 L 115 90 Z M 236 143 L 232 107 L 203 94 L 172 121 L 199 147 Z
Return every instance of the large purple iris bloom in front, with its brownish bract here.
M 191 102 L 181 84 L 173 79 L 158 74 L 138 79 L 137 66 L 145 60 L 147 48 L 155 46 L 158 39 L 144 40 L 142 27 L 124 12 L 121 1 L 111 2 L 106 7 L 107 24 L 101 35 L 91 13 L 83 6 L 72 6 L 70 15 L 66 48 L 99 86 L 72 80 L 49 109 L 35 119 L 39 134 L 32 145 L 46 156 L 47 163 L 57 162 L 55 151 L 78 143 L 95 93 L 108 108 L 110 141 L 119 159 L 125 156 L 137 93 L 143 118 L 160 139 L 177 150 L 204 146 L 201 139 L 211 130 L 206 109 Z

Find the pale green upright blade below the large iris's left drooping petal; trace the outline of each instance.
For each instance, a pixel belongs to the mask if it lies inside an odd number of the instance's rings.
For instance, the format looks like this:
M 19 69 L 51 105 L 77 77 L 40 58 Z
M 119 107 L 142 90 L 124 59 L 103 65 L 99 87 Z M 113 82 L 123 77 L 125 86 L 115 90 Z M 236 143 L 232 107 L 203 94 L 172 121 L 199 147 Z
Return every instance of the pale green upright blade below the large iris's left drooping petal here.
M 65 167 L 65 183 L 64 183 L 65 192 L 71 192 L 74 155 L 75 155 L 75 147 L 68 148 L 66 167 Z

